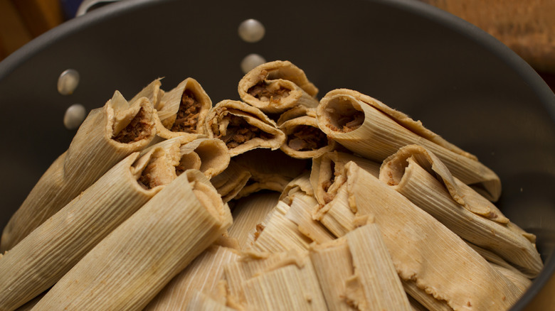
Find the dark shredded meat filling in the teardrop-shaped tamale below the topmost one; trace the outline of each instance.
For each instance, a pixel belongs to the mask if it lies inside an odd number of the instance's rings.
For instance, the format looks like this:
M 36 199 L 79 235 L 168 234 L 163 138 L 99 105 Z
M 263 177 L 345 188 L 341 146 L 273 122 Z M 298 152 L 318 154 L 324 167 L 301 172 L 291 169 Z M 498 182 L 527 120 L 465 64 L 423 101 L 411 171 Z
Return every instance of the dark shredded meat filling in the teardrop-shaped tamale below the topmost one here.
M 226 129 L 226 135 L 218 134 L 216 138 L 220 138 L 229 149 L 236 148 L 241 143 L 250 141 L 255 137 L 260 137 L 264 139 L 271 139 L 273 135 L 266 133 L 258 127 L 248 124 L 245 119 L 240 116 L 234 116 L 233 114 L 228 115 L 229 124 Z

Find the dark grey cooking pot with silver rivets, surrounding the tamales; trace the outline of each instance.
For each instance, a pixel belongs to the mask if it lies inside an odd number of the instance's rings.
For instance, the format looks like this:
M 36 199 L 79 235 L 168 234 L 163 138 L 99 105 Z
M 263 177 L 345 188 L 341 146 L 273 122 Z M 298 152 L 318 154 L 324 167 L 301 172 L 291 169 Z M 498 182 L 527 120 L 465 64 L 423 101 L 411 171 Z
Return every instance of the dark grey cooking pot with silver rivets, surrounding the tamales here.
M 255 18 L 255 43 L 238 26 Z M 555 96 L 512 50 L 455 16 L 413 0 L 121 1 L 63 23 L 0 62 L 0 228 L 75 130 L 65 110 L 130 98 L 157 77 L 171 89 L 198 80 L 214 103 L 238 99 L 250 53 L 290 60 L 323 96 L 346 87 L 423 121 L 502 180 L 497 206 L 536 234 L 544 271 L 512 310 L 523 310 L 555 271 Z M 67 69 L 80 75 L 63 95 Z

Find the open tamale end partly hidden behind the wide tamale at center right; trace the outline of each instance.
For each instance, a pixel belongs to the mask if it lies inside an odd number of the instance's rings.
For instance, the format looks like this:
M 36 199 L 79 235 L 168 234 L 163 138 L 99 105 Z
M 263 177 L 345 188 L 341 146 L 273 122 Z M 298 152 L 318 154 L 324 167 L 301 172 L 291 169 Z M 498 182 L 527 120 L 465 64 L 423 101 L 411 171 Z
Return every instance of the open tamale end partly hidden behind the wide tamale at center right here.
M 344 182 L 344 176 L 339 174 L 349 161 L 354 161 L 359 167 L 379 176 L 380 163 L 373 160 L 333 151 L 312 160 L 310 183 L 314 189 L 314 197 L 319 204 L 327 204 L 337 194 L 339 186 Z

